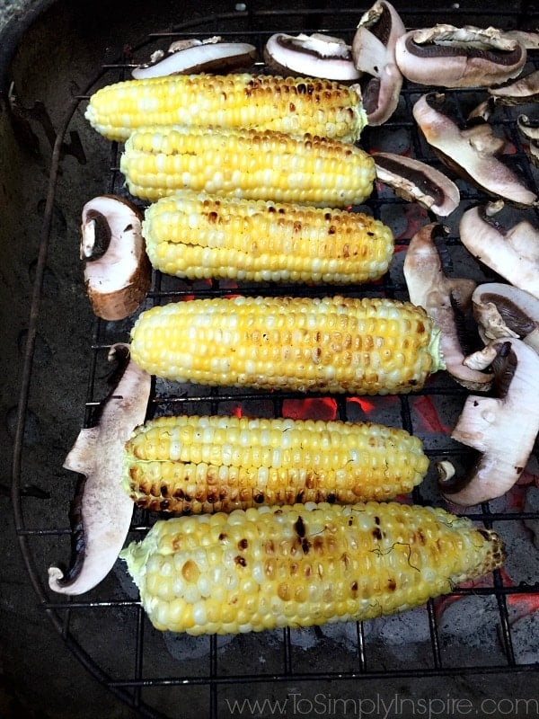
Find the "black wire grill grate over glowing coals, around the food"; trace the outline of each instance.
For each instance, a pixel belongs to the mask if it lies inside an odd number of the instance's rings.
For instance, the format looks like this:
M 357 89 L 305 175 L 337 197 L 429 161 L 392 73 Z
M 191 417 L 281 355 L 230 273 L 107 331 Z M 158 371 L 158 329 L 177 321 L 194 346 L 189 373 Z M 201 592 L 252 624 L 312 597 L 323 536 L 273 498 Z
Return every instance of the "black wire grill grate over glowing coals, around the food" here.
M 408 7 L 402 11 L 407 27 L 434 24 L 439 18 L 456 25 L 477 24 L 486 26 L 491 23 L 492 13 L 496 13 L 497 24 L 505 28 L 533 28 L 538 24 L 538 13 L 528 8 L 526 3 L 517 8 L 508 9 L 507 5 L 493 11 L 492 5 L 486 10 L 474 10 L 454 4 L 445 11 L 437 8 L 429 11 L 425 8 Z M 299 31 L 330 31 L 341 37 L 351 39 L 363 9 L 324 11 L 322 6 L 290 12 L 281 10 L 256 10 L 249 7 L 234 13 L 219 13 L 211 17 L 200 18 L 175 27 L 172 31 L 154 33 L 136 49 L 129 49 L 126 58 L 119 62 L 103 66 L 99 75 L 88 87 L 93 92 L 98 84 L 109 84 L 128 75 L 130 64 L 144 61 L 158 47 L 163 47 L 177 36 L 190 35 L 200 37 L 218 33 L 234 40 L 248 40 L 261 50 L 265 40 L 274 31 L 287 31 L 292 34 Z M 530 64 L 537 64 L 536 58 L 530 58 Z M 420 138 L 420 133 L 411 121 L 411 107 L 425 88 L 405 84 L 402 91 L 402 104 L 383 128 L 366 129 L 362 145 L 367 149 L 388 150 L 393 152 L 410 151 L 412 156 L 440 166 Z M 466 107 L 478 104 L 484 94 L 476 90 L 463 90 L 455 93 Z M 32 358 L 35 343 L 35 328 L 38 322 L 40 289 L 43 284 L 45 258 L 49 252 L 51 214 L 54 202 L 55 184 L 59 168 L 60 145 L 70 128 L 75 111 L 84 102 L 84 96 L 74 99 L 66 112 L 64 127 L 58 132 L 57 144 L 53 155 L 49 179 L 49 198 L 45 210 L 43 241 L 40 247 L 40 260 L 36 273 L 35 296 L 32 303 L 31 329 L 25 357 L 21 402 L 18 417 L 17 438 L 13 462 L 13 508 L 22 553 L 31 574 L 31 580 L 40 598 L 40 604 L 58 632 L 64 637 L 66 645 L 93 675 L 107 685 L 115 694 L 135 707 L 142 716 L 176 717 L 187 716 L 188 706 L 192 706 L 193 716 L 206 715 L 210 719 L 230 715 L 231 702 L 244 696 L 267 696 L 270 691 L 274 697 L 292 697 L 288 703 L 294 713 L 302 714 L 299 705 L 301 697 L 318 696 L 320 687 L 331 688 L 331 694 L 325 694 L 326 715 L 331 715 L 332 697 L 355 697 L 358 695 L 357 682 L 368 682 L 369 688 L 378 688 L 383 679 L 429 679 L 446 677 L 447 679 L 467 675 L 491 675 L 510 678 L 517 672 L 528 676 L 537 676 L 538 664 L 523 660 L 514 635 L 515 608 L 535 598 L 539 585 L 524 577 L 513 577 L 510 573 L 494 573 L 493 581 L 486 586 L 475 586 L 455 590 L 449 599 L 430 601 L 427 608 L 411 614 L 411 623 L 418 623 L 420 631 L 411 631 L 403 616 L 404 625 L 392 628 L 375 622 L 365 626 L 358 624 L 351 633 L 337 635 L 331 639 L 323 629 L 313 631 L 290 631 L 269 633 L 268 635 L 249 635 L 234 638 L 231 644 L 222 644 L 216 637 L 199 638 L 196 642 L 184 644 L 183 638 L 163 636 L 156 633 L 148 624 L 140 608 L 133 588 L 129 586 L 122 568 L 112 573 L 102 585 L 84 598 L 59 599 L 43 589 L 44 577 L 38 567 L 45 555 L 45 564 L 56 559 L 56 543 L 64 543 L 70 534 L 66 526 L 31 527 L 25 519 L 25 499 L 20 491 L 22 464 L 22 445 L 25 413 L 28 403 L 29 386 L 32 375 Z M 521 110 L 517 110 L 520 112 Z M 505 108 L 496 112 L 493 124 L 500 133 L 505 133 L 515 146 L 513 161 L 521 166 L 530 185 L 536 185 L 536 173 L 531 169 L 524 155 L 524 148 L 515 127 L 515 109 Z M 119 195 L 125 194 L 123 178 L 118 172 L 120 147 L 111 144 L 110 173 L 106 191 Z M 83 170 L 84 172 L 84 170 Z M 103 168 L 103 174 L 106 168 Z M 482 195 L 470 186 L 460 183 L 462 207 L 482 200 Z M 103 188 L 105 191 L 105 188 Z M 391 271 L 379 283 L 353 288 L 339 288 L 340 294 L 350 296 L 377 296 L 406 298 L 406 287 L 402 277 L 402 251 L 405 251 L 415 229 L 427 220 L 434 219 L 417 206 L 396 198 L 391 191 L 377 189 L 368 200 L 368 211 L 392 226 L 396 237 L 396 254 Z M 532 211 L 530 210 L 530 213 Z M 458 213 L 454 213 L 458 214 Z M 532 217 L 539 224 L 537 215 Z M 449 235 L 442 252 L 443 262 L 448 274 L 464 272 L 475 280 L 490 280 L 491 275 L 484 274 L 469 259 L 457 236 L 458 217 L 447 219 Z M 163 304 L 171 300 L 186 297 L 226 296 L 237 292 L 249 295 L 257 294 L 301 294 L 304 296 L 323 296 L 332 294 L 331 286 L 302 287 L 294 285 L 241 284 L 213 281 L 188 282 L 171 279 L 155 274 L 152 290 L 146 306 Z M 113 342 L 126 341 L 128 323 L 104 323 L 94 325 L 89 352 L 92 353 L 91 371 L 88 378 L 86 401 L 86 426 L 92 423 L 93 412 L 104 396 L 102 377 L 107 351 Z M 33 370 L 35 373 L 37 370 Z M 456 445 L 448 437 L 450 428 L 464 403 L 467 395 L 464 388 L 455 384 L 445 373 L 431 378 L 420 392 L 402 395 L 397 398 L 369 397 L 368 402 L 360 398 L 338 396 L 334 398 L 316 397 L 307 404 L 305 395 L 297 393 L 260 393 L 255 391 L 235 391 L 226 388 L 199 386 L 180 386 L 155 381 L 154 392 L 148 410 L 149 416 L 163 413 L 229 413 L 241 409 L 243 413 L 253 415 L 291 415 L 296 412 L 313 416 L 316 413 L 329 413 L 341 420 L 372 419 L 402 426 L 423 439 L 429 457 L 434 461 L 451 457 L 454 461 L 466 465 L 471 461 L 470 450 Z M 75 432 L 75 430 L 74 430 Z M 539 461 L 535 448 L 534 461 Z M 69 502 L 66 496 L 66 507 Z M 436 493 L 436 481 L 429 475 L 425 483 L 416 488 L 412 499 L 418 503 L 439 503 Z M 496 528 L 502 537 L 510 537 L 514 546 L 522 534 L 523 522 L 539 521 L 539 512 L 525 511 L 522 507 L 507 506 L 503 502 L 484 504 L 479 510 L 473 510 L 469 516 L 488 528 Z M 131 537 L 140 537 L 155 516 L 144 510 L 135 510 Z M 513 538 L 517 535 L 517 538 Z M 530 537 L 523 540 L 528 543 L 529 552 L 536 553 Z M 53 543 L 55 543 L 53 545 Z M 64 544 L 62 544 L 64 546 Z M 510 558 L 511 555 L 509 555 Z M 512 571 L 513 564 L 510 564 Z M 509 570 L 508 570 L 509 572 Z M 515 570 L 517 572 L 517 570 Z M 509 579 L 509 577 L 511 577 Z M 472 606 L 481 611 L 490 608 L 490 614 L 484 614 L 484 622 L 475 627 L 478 636 L 486 632 L 488 639 L 484 647 L 464 643 L 459 650 L 459 636 L 446 635 L 446 611 L 467 599 Z M 472 615 L 470 615 L 471 617 Z M 396 620 L 397 626 L 400 620 Z M 385 631 L 385 634 L 384 634 Z M 468 629 L 464 627 L 464 634 Z M 461 638 L 462 636 L 461 635 Z M 390 637 L 387 641 L 387 636 Z M 102 639 L 100 639 L 100 637 Z M 344 638 L 343 638 L 344 637 Z M 384 639 L 385 637 L 385 639 Z M 404 637 L 404 638 L 403 638 Z M 410 638 L 411 637 L 411 638 Z M 342 642 L 346 639 L 346 649 Z M 396 656 L 391 645 L 400 649 Z M 110 661 L 110 645 L 115 646 L 115 661 Z M 491 648 L 496 646 L 496 651 Z M 486 647 L 486 648 L 485 648 Z M 309 651 L 306 652 L 305 648 Z M 252 661 L 258 662 L 253 670 Z M 535 657 L 535 660 L 537 657 Z M 234 663 L 235 662 L 235 663 Z M 495 679 L 494 681 L 497 681 Z M 338 684 L 336 682 L 338 681 Z M 510 681 L 510 679 L 509 679 Z M 437 686 L 441 686 L 437 684 Z M 290 688 L 293 687 L 291 690 Z M 298 688 L 299 687 L 299 688 Z M 368 690 L 368 689 L 367 689 Z M 290 693 L 292 691 L 292 693 Z M 305 691 L 305 695 L 302 695 Z M 296 692 L 296 693 L 294 693 Z M 308 692 L 311 692 L 309 695 Z M 441 691 L 440 691 L 441 694 Z M 295 698 L 294 698 L 295 697 Z M 305 701 L 307 701 L 305 699 Z M 350 705 L 351 706 L 351 705 Z M 358 707 L 356 706 L 356 713 Z M 278 707 L 278 705 L 277 705 Z M 321 711 L 314 714 L 322 714 Z M 311 707 L 313 708 L 313 707 Z M 342 708 L 342 707 L 341 707 Z M 228 714 L 226 712 L 228 711 Z M 278 714 L 277 709 L 268 714 Z M 449 714 L 449 712 L 447 712 Z M 252 713 L 253 714 L 253 713 Z M 283 715 L 284 712 L 281 712 Z M 335 714 L 335 712 L 333 712 Z

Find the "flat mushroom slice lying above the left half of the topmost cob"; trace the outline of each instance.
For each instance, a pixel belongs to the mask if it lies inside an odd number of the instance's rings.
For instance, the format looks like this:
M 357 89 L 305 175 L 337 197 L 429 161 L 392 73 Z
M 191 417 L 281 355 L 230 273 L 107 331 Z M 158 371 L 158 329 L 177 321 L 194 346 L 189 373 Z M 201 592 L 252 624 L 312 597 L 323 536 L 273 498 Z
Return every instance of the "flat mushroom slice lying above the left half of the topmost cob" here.
M 146 65 L 131 71 L 136 80 L 163 75 L 187 75 L 203 72 L 233 72 L 251 67 L 256 48 L 247 42 L 223 42 L 220 37 L 207 40 L 176 40 L 168 52 L 157 51 Z

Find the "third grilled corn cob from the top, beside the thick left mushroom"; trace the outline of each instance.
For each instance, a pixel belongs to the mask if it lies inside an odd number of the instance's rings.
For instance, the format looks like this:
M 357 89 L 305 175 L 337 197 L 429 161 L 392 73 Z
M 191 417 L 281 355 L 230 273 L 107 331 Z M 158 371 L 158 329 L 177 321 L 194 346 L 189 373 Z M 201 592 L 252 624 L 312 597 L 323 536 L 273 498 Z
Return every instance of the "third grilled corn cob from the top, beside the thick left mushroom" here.
M 146 209 L 155 269 L 191 280 L 377 280 L 393 257 L 389 227 L 361 212 L 179 192 Z

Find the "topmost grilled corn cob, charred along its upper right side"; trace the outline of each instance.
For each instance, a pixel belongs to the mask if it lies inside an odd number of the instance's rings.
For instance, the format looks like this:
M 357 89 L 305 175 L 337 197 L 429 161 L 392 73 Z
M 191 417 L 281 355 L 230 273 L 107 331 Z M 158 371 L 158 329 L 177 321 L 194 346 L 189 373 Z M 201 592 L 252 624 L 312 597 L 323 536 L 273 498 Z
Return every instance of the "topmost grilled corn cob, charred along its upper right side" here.
M 98 90 L 85 117 L 110 140 L 141 125 L 275 129 L 355 142 L 367 124 L 357 88 L 272 75 L 168 75 Z

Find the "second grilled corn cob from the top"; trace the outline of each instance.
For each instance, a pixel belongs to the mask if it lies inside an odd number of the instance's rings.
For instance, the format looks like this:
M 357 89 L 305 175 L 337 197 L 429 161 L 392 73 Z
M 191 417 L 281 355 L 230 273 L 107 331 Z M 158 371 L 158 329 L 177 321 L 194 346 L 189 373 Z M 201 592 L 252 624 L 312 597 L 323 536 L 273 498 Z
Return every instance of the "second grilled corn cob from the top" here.
M 129 192 L 145 200 L 194 190 L 324 207 L 363 202 L 376 176 L 371 155 L 338 140 L 181 125 L 133 132 L 119 166 Z

